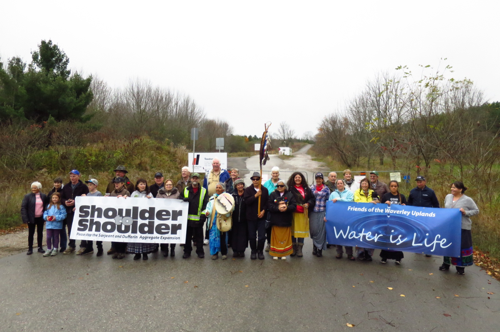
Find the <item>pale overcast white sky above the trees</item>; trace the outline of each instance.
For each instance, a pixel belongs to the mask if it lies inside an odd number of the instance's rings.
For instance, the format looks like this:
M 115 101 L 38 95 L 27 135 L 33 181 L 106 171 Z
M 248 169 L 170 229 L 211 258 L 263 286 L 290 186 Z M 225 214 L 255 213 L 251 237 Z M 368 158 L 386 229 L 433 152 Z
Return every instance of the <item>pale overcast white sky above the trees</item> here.
M 190 95 L 235 134 L 298 136 L 397 65 L 453 66 L 500 99 L 499 1 L 3 1 L 0 56 L 51 39 L 72 69 Z M 441 62 L 444 63 L 444 62 Z

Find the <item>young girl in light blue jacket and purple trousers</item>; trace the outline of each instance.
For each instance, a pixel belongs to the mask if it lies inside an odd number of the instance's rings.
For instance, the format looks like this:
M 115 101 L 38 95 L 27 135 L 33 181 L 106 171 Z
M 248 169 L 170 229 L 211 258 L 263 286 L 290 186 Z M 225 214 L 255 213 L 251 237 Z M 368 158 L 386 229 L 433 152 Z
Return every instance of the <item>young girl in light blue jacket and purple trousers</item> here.
M 53 193 L 50 198 L 50 203 L 45 212 L 43 212 L 43 220 L 47 223 L 47 251 L 43 257 L 57 255 L 59 247 L 59 235 L 62 230 L 62 221 L 66 218 L 66 209 L 61 205 L 61 194 Z M 53 244 L 53 249 L 52 249 Z

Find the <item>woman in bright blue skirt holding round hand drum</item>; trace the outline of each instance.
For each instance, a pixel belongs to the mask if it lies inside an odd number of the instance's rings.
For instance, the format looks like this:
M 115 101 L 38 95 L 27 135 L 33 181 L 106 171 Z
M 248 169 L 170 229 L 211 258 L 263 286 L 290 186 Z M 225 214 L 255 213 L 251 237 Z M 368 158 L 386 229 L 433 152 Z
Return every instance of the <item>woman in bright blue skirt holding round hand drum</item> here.
M 218 252 L 222 255 L 222 259 L 227 259 L 227 236 L 229 232 L 221 232 L 217 228 L 217 211 L 215 211 L 215 198 L 224 192 L 224 184 L 219 182 L 215 186 L 215 194 L 210 197 L 206 205 L 205 216 L 208 218 L 208 236 L 209 248 L 212 260 L 218 259 Z

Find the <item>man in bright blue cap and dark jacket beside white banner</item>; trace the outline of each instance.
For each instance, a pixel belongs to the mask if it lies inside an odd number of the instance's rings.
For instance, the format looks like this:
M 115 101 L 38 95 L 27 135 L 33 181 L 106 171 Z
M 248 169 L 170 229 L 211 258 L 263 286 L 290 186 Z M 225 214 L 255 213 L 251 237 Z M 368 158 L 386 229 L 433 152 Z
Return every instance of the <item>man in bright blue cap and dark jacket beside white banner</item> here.
M 61 203 L 62 205 L 66 208 L 66 213 L 67 217 L 64 219 L 62 222 L 62 232 L 61 232 L 61 249 L 64 254 L 70 254 L 73 251 L 75 251 L 76 243 L 74 239 L 69 238 L 71 236 L 71 226 L 73 225 L 73 216 L 74 216 L 74 198 L 76 196 L 81 196 L 83 194 L 88 194 L 88 187 L 81 182 L 80 180 L 80 172 L 77 170 L 73 169 L 71 172 L 69 172 L 69 182 L 64 185 L 62 188 L 61 192 Z M 66 231 L 65 227 L 67 225 L 67 237 L 69 238 L 69 243 L 67 243 L 67 249 L 66 248 Z M 86 242 L 83 248 L 80 248 L 85 250 L 86 247 Z

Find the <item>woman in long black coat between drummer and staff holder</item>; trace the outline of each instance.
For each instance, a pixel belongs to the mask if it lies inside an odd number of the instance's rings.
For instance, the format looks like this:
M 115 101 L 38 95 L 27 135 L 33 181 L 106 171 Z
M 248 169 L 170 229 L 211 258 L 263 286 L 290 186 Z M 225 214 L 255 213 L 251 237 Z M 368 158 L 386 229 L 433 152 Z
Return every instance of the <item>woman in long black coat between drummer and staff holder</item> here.
M 234 181 L 234 211 L 232 211 L 231 249 L 232 257 L 244 257 L 248 248 L 248 223 L 246 222 L 246 203 L 243 199 L 245 182 L 243 179 Z

